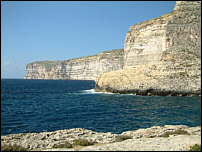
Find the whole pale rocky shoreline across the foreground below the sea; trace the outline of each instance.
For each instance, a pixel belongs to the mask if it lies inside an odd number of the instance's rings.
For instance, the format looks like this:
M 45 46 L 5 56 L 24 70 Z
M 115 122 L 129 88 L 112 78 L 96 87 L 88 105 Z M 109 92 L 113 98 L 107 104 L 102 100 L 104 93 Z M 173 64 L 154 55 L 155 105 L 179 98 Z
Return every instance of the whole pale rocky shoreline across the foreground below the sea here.
M 117 140 L 118 137 L 127 138 L 126 140 Z M 74 144 L 75 139 L 85 139 L 94 143 L 94 145 L 54 148 L 54 145 L 64 144 L 65 142 Z M 73 128 L 54 132 L 20 133 L 1 136 L 1 146 L 18 145 L 31 151 L 186 151 L 194 144 L 201 145 L 201 126 L 153 126 L 147 129 L 126 131 L 121 134 Z

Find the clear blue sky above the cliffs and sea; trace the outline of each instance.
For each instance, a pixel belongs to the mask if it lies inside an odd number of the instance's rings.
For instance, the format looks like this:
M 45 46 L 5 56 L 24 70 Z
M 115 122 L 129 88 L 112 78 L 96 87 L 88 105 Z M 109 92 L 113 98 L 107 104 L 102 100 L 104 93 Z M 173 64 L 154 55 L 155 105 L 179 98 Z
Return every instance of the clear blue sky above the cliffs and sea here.
M 175 1 L 1 1 L 1 78 L 26 64 L 124 48 L 129 27 L 173 11 Z

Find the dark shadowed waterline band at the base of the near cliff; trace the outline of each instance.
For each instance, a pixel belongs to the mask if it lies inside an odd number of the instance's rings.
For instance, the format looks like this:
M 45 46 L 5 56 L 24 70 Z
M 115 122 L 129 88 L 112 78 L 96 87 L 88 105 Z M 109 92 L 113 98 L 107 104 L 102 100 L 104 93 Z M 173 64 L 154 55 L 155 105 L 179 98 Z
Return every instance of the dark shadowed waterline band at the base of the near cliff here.
M 148 90 L 139 90 L 139 89 L 124 89 L 124 90 L 116 90 L 113 88 L 107 87 L 99 87 L 97 84 L 95 85 L 94 90 L 96 92 L 111 92 L 111 93 L 120 93 L 120 94 L 134 94 L 134 95 L 142 95 L 142 96 L 199 96 L 201 95 L 201 90 L 198 91 L 171 91 L 171 90 L 160 90 L 160 89 L 148 89 Z

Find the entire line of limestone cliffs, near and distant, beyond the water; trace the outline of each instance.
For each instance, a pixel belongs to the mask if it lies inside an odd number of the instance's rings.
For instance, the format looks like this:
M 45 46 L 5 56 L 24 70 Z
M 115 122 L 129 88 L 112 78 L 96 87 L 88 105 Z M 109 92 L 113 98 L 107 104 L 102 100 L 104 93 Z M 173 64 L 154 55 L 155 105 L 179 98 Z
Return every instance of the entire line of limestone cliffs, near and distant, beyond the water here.
M 135 24 L 124 50 L 66 61 L 33 62 L 25 79 L 95 80 L 95 91 L 136 95 L 201 94 L 201 1 Z

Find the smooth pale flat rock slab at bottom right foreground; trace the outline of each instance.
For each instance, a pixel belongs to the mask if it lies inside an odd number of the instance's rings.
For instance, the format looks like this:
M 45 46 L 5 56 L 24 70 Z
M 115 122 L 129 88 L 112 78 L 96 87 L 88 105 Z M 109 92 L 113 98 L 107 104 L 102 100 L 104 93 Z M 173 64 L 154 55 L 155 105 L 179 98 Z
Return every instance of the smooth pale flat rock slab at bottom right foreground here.
M 200 137 L 195 135 L 171 136 L 169 138 L 128 139 L 104 146 L 89 146 L 82 151 L 187 151 L 194 144 L 200 144 Z

